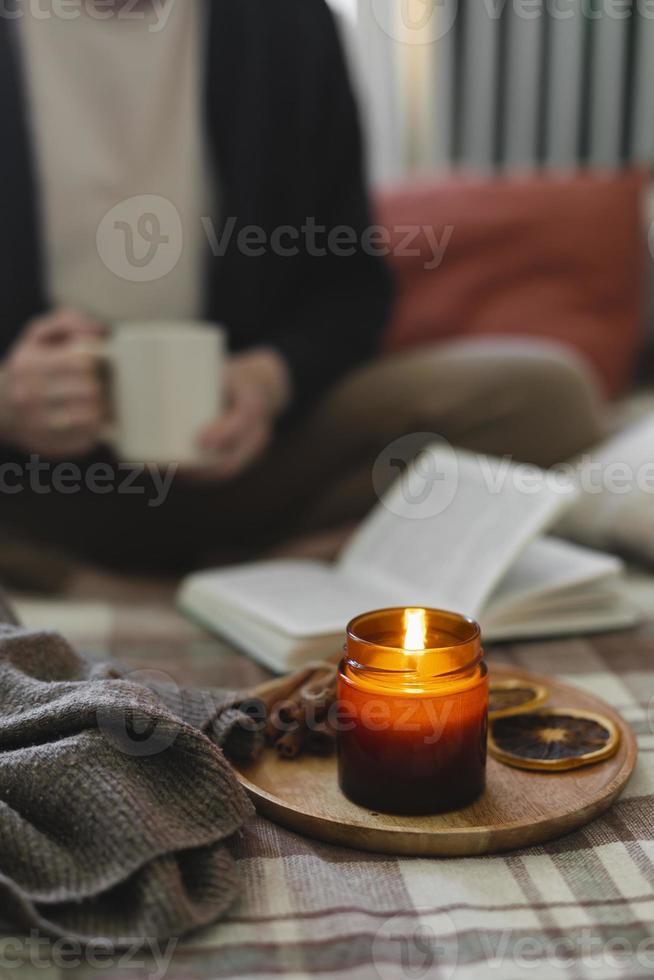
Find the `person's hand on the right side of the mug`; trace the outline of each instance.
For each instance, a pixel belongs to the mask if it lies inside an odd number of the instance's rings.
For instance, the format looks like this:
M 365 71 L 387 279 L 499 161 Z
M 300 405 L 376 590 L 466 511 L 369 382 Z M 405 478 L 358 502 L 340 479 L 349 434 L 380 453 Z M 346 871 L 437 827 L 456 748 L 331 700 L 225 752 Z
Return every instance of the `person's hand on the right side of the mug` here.
M 281 354 L 258 348 L 233 357 L 227 368 L 226 411 L 200 438 L 202 449 L 214 458 L 202 476 L 228 480 L 253 463 L 270 444 L 290 394 Z

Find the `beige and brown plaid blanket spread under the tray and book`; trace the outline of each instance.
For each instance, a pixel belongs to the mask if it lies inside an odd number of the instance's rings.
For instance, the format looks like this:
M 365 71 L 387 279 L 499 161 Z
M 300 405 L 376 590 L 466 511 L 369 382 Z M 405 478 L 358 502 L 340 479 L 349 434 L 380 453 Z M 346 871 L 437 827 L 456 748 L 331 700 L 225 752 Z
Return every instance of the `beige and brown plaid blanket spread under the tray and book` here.
M 55 612 L 60 622 L 53 622 Z M 23 605 L 87 649 L 180 683 L 253 684 L 264 672 L 175 613 Z M 53 976 L 168 980 L 650 978 L 654 975 L 654 625 L 589 640 L 513 645 L 489 659 L 551 673 L 616 707 L 640 761 L 609 813 L 558 841 L 497 857 L 395 859 L 253 820 L 242 897 L 219 926 L 147 962 L 75 962 Z M 23 950 L 25 969 L 31 954 Z M 5 965 L 0 942 L 0 969 Z M 138 966 L 138 969 L 137 969 Z M 15 972 L 14 972 L 15 975 Z M 19 974 L 20 975 L 20 974 Z M 31 973 L 29 974 L 32 975 Z M 47 978 L 40 970 L 37 974 Z

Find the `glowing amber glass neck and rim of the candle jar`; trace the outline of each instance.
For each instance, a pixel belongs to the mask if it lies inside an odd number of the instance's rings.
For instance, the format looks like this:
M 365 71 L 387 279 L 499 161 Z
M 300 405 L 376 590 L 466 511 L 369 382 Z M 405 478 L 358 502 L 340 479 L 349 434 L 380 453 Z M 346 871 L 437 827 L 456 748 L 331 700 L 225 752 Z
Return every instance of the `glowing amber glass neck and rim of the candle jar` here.
M 425 648 L 403 645 L 407 612 L 422 611 Z M 378 609 L 353 619 L 341 673 L 350 683 L 419 690 L 479 679 L 483 665 L 481 630 L 458 613 L 422 606 Z M 484 668 L 485 670 L 485 668 Z

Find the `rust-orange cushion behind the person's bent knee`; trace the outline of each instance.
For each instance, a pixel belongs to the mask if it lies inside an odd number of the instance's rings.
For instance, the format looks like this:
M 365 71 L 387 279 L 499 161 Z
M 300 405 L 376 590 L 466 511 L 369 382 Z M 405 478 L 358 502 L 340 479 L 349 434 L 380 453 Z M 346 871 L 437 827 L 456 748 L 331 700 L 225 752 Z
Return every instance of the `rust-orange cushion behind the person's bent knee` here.
M 617 395 L 643 337 L 645 184 L 629 172 L 458 178 L 384 192 L 378 213 L 399 283 L 387 350 L 545 337 L 584 355 Z

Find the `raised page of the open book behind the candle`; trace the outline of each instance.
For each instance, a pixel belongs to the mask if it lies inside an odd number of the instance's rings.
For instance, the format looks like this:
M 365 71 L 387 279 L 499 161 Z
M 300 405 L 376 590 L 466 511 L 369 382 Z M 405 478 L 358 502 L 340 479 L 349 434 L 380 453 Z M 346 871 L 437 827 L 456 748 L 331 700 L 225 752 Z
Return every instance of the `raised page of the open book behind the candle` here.
M 519 554 L 571 506 L 575 490 L 536 467 L 428 447 L 344 550 L 353 583 L 399 602 L 477 616 Z

